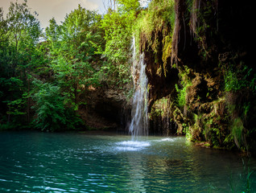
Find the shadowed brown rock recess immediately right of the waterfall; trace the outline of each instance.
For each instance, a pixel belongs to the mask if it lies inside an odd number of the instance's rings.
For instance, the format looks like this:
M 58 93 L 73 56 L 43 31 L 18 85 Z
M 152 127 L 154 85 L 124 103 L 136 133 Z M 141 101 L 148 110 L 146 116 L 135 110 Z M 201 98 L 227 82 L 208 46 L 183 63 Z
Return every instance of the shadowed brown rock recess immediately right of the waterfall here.
M 155 39 L 163 41 L 163 34 L 155 32 Z M 175 92 L 175 84 L 178 83 L 178 70 L 171 68 L 171 57 L 167 58 L 167 66 L 163 64 L 163 52 L 154 53 L 144 39 L 146 73 L 148 77 L 148 112 L 150 117 L 149 133 L 154 135 L 170 135 L 176 133 L 176 125 L 171 121 L 171 109 L 168 104 L 159 104 L 159 100 L 168 98 L 170 93 Z M 161 43 L 160 43 L 161 44 Z M 161 45 L 160 45 L 161 47 Z M 161 111 L 159 113 L 159 111 Z M 158 112 L 158 113 L 156 113 Z

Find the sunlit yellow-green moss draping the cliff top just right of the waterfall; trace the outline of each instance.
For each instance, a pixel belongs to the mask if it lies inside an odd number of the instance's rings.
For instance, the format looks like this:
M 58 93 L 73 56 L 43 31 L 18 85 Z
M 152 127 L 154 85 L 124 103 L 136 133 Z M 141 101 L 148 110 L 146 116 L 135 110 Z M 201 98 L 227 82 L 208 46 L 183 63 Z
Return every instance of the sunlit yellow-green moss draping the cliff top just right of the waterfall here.
M 142 50 L 150 49 L 155 53 L 155 63 L 163 61 L 163 73 L 166 76 L 167 59 L 171 57 L 172 32 L 175 24 L 174 0 L 154 0 L 147 10 L 138 15 L 134 27 L 137 42 L 142 41 Z M 163 37 L 159 34 L 162 33 Z M 162 39 L 159 41 L 159 39 Z M 147 42 L 147 47 L 143 43 Z M 162 42 L 161 42 L 162 41 Z M 144 45 L 143 45 L 144 44 Z M 162 55 L 159 58 L 158 54 Z

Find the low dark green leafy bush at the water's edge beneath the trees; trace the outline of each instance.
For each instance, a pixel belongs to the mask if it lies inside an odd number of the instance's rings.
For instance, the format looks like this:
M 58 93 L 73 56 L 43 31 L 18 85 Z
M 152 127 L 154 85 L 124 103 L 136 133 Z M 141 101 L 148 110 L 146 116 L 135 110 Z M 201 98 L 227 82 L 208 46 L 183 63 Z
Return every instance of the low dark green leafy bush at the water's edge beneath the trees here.
M 35 128 L 42 131 L 55 131 L 60 129 L 76 129 L 81 120 L 64 105 L 64 96 L 61 96 L 60 87 L 34 81 L 39 88 L 33 95 L 36 101 L 32 109 L 35 109 Z

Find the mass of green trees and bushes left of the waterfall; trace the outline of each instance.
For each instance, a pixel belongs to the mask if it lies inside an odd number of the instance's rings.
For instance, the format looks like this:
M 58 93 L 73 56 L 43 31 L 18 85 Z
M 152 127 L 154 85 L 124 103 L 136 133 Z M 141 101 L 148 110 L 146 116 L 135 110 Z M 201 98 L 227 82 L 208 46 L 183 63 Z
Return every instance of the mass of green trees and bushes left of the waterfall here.
M 89 87 L 105 80 L 130 82 L 130 40 L 140 7 L 137 0 L 117 5 L 102 21 L 96 11 L 80 5 L 60 25 L 52 18 L 44 42 L 39 42 L 42 30 L 26 0 L 11 2 L 6 18 L 0 9 L 0 115 L 5 128 L 20 120 L 29 123 L 32 113 L 37 128 L 72 128 Z M 32 83 L 35 79 L 39 81 Z

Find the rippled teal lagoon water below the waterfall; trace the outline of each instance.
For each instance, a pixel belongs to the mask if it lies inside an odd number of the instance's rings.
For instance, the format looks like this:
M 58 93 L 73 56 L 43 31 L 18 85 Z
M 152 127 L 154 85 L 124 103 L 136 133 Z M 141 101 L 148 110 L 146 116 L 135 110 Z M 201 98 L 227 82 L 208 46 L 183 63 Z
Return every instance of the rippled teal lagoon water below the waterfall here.
M 0 192 L 242 192 L 248 166 L 255 160 L 183 137 L 0 133 Z

